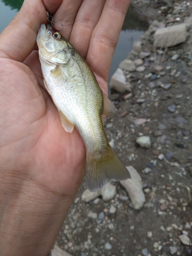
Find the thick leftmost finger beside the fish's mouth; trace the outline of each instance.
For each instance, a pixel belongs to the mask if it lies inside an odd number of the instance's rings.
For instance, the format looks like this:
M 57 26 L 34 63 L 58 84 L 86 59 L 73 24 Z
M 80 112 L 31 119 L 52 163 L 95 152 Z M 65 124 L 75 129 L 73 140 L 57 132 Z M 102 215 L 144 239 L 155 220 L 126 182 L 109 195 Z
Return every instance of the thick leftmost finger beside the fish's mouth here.
M 53 4 L 57 2 L 60 0 Z M 0 57 L 23 62 L 35 47 L 42 23 L 47 23 L 44 4 L 40 0 L 25 0 L 18 14 L 0 35 Z

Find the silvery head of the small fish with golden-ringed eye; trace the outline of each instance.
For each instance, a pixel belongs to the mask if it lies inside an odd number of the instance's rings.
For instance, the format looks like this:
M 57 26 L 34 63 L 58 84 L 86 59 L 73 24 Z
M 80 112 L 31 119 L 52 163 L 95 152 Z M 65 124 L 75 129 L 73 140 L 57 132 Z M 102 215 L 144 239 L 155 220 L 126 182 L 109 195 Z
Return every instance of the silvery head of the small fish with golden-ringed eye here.
M 52 26 L 48 25 L 46 28 L 46 25 L 42 24 L 36 41 L 39 58 L 45 63 L 66 64 L 73 55 L 71 45 L 67 39 Z

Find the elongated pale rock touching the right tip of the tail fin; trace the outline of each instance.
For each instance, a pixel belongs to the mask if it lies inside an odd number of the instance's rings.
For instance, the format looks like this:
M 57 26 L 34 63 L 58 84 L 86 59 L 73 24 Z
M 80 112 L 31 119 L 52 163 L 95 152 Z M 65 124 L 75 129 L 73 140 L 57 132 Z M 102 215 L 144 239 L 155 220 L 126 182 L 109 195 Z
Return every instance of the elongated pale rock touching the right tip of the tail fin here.
M 132 204 L 136 210 L 143 207 L 145 196 L 142 189 L 141 176 L 133 166 L 126 167 L 129 170 L 131 179 L 120 181 L 121 185 L 126 189 Z

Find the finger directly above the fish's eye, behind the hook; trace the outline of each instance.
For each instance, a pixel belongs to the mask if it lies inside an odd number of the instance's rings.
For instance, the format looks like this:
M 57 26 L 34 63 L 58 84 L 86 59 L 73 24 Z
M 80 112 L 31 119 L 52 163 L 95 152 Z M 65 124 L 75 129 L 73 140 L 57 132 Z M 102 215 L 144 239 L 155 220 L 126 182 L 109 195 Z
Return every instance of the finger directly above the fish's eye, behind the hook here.
M 56 13 L 53 16 L 54 26 L 57 29 L 59 29 L 61 26 L 60 24 L 62 24 L 63 29 L 60 33 L 63 36 L 65 36 L 65 38 L 68 40 L 75 22 L 75 17 L 81 5 L 81 2 L 82 0 L 64 0 L 62 1 L 59 9 L 56 11 Z

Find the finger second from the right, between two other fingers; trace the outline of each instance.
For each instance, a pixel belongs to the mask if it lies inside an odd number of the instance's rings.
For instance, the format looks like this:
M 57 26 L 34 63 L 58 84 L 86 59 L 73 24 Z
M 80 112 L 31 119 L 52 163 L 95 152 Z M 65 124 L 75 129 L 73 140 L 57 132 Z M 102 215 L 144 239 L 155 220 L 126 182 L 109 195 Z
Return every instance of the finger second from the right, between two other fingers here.
M 71 44 L 86 58 L 92 32 L 101 16 L 105 0 L 84 0 L 79 8 L 70 36 Z

